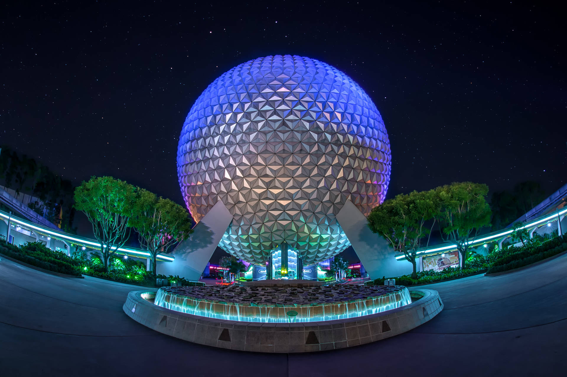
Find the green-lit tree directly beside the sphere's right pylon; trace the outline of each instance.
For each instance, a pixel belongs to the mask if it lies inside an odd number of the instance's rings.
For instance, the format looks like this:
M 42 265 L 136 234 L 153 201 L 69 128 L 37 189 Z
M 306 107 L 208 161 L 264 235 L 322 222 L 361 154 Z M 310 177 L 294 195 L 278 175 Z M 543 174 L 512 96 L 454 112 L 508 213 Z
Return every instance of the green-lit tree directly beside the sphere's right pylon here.
M 386 200 L 367 217 L 370 230 L 385 238 L 396 253 L 403 252 L 405 259 L 412 263 L 413 279 L 417 278 L 417 249 L 421 239 L 431 233 L 439 205 L 434 190 L 413 191 Z

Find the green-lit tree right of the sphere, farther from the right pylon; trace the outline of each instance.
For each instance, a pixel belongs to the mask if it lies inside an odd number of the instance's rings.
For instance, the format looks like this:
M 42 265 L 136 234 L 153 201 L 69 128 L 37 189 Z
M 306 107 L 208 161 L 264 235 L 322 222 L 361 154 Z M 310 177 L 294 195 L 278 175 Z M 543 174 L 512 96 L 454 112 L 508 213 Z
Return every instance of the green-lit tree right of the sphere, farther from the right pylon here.
M 457 246 L 464 268 L 469 245 L 480 229 L 490 225 L 492 211 L 486 203 L 488 186 L 481 183 L 456 182 L 435 188 L 441 203 L 437 213 L 443 241 Z

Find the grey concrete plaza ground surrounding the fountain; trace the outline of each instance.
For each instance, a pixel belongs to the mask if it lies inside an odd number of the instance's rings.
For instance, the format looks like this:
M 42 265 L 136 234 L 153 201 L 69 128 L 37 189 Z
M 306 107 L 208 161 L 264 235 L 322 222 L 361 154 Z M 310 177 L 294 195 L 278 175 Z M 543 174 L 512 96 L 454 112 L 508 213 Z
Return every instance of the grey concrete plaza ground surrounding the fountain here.
M 140 287 L 0 261 L 2 376 L 563 376 L 567 255 L 522 271 L 431 284 L 445 310 L 387 340 L 311 354 L 209 348 L 124 312 Z

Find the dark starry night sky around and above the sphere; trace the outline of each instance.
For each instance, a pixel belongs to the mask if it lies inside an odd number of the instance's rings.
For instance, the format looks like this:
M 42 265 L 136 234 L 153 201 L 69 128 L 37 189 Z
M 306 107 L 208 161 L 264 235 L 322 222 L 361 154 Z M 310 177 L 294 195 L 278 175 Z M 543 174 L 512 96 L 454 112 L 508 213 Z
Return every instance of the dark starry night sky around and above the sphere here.
M 77 184 L 112 175 L 183 203 L 176 151 L 193 102 L 274 54 L 326 62 L 373 98 L 388 198 L 567 182 L 566 30 L 551 5 L 12 3 L 0 6 L 0 144 Z

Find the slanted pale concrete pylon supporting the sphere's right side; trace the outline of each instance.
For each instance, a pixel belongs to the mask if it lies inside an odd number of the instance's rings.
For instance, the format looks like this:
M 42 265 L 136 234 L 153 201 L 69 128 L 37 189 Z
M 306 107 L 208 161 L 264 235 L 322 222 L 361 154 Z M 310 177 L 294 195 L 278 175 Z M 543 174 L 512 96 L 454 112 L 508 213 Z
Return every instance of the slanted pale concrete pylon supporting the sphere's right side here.
M 335 217 L 370 279 L 401 276 L 412 272 L 412 264 L 407 260 L 398 261 L 394 258 L 392 247 L 378 234 L 372 233 L 366 217 L 350 200 Z

